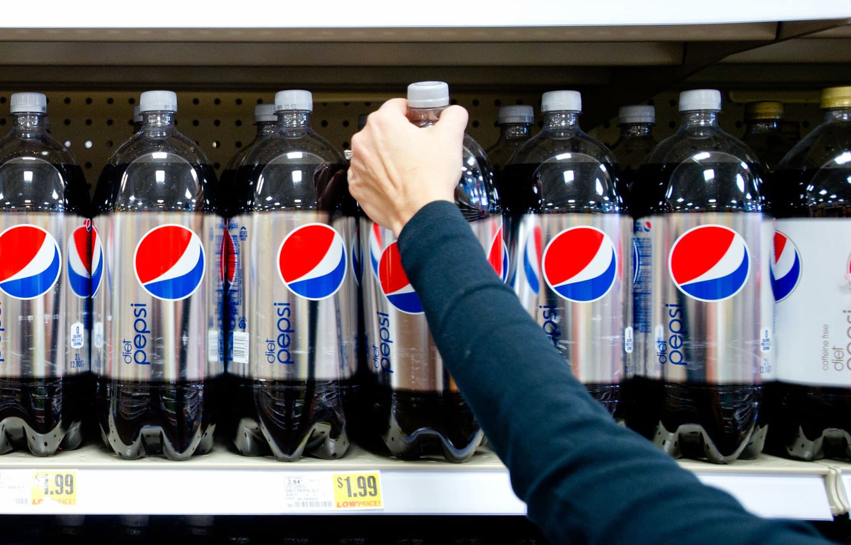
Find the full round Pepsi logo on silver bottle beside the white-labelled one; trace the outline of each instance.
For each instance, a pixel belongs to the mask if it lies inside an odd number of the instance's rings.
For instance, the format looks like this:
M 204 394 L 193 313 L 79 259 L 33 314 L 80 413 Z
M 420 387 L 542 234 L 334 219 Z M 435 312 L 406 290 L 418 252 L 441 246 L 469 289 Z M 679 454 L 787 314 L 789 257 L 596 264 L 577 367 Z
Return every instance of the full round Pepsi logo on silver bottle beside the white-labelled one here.
M 671 247 L 668 269 L 677 288 L 698 301 L 733 297 L 747 283 L 751 253 L 745 239 L 723 225 L 700 225 Z

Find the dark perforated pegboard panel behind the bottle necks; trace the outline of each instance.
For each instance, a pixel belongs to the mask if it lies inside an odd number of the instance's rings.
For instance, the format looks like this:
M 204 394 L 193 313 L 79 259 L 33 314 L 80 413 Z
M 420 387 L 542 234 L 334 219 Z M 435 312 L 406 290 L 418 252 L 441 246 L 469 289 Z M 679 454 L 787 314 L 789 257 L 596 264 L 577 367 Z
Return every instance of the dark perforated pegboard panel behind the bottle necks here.
M 0 133 L 9 128 L 10 91 L 0 91 Z M 139 93 L 121 91 L 62 92 L 47 91 L 51 133 L 64 142 L 77 156 L 89 183 L 94 185 L 100 169 L 111 154 L 133 133 L 133 108 Z M 351 135 L 357 131 L 357 116 L 376 110 L 391 95 L 376 93 L 316 94 L 311 116 L 313 128 L 339 149 L 349 147 Z M 648 99 L 656 108 L 656 139 L 664 139 L 679 124 L 678 91 L 666 91 Z M 722 128 L 740 137 L 744 132 L 744 105 L 724 97 L 721 114 Z M 181 92 L 178 94 L 178 128 L 198 142 L 210 162 L 220 173 L 221 168 L 244 145 L 254 139 L 254 105 L 274 98 L 274 90 L 252 93 Z M 585 96 L 586 101 L 593 96 Z M 481 145 L 492 145 L 499 136 L 496 126 L 500 105 L 528 104 L 535 108 L 536 124 L 542 124 L 540 94 L 498 93 L 453 94 L 453 102 L 470 112 L 467 132 Z M 802 135 L 821 120 L 818 105 L 791 103 L 786 105 L 785 118 L 801 124 Z M 581 117 L 580 117 L 581 123 Z M 618 138 L 617 120 L 596 128 L 584 127 L 592 136 L 612 145 Z

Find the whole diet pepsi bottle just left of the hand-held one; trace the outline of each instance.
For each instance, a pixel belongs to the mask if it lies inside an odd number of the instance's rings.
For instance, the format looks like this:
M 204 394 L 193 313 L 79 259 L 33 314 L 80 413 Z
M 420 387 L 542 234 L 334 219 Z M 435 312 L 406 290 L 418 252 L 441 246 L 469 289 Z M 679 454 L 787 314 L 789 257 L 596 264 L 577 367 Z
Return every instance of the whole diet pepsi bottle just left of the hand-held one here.
M 312 95 L 281 91 L 275 110 L 234 181 L 231 438 L 248 456 L 336 458 L 357 369 L 355 202 L 346 160 L 311 128 Z

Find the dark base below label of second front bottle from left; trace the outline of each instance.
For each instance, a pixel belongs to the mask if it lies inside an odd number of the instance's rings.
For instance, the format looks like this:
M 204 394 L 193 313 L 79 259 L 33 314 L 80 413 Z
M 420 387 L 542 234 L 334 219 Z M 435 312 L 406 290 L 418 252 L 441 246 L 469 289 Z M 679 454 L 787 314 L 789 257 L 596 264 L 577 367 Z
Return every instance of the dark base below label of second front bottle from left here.
M 203 382 L 135 382 L 99 377 L 100 434 L 119 457 L 162 452 L 186 460 L 213 447 L 222 378 Z

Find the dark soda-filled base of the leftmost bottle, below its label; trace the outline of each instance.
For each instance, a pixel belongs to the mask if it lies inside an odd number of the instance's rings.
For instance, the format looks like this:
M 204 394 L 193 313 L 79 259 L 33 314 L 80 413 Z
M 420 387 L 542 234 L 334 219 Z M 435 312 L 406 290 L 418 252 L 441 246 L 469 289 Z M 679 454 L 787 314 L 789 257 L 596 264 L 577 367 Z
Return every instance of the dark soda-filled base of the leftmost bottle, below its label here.
M 89 373 L 0 378 L 0 454 L 26 449 L 36 456 L 49 456 L 80 446 L 91 386 Z

